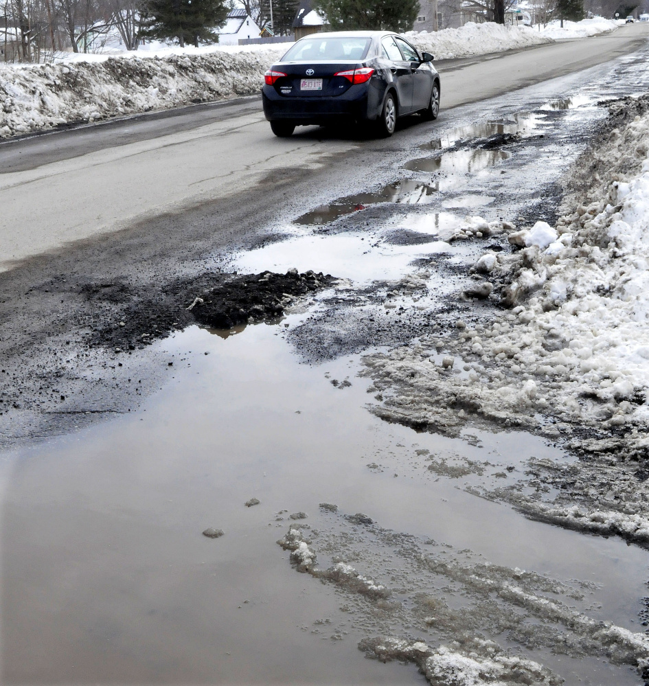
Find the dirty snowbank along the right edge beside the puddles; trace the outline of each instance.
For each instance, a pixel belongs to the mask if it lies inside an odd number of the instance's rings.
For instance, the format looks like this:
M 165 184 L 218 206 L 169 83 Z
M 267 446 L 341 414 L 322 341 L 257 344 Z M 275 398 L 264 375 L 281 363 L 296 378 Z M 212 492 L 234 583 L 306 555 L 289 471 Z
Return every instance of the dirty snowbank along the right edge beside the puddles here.
M 519 249 L 475 264 L 477 286 L 509 312 L 368 356 L 365 374 L 387 420 L 453 434 L 488 420 L 565 437 L 589 459 L 534 465 L 536 496 L 553 486 L 554 501 L 527 497 L 524 481 L 491 494 L 545 521 L 649 545 L 649 95 L 611 106 L 602 132 L 573 170 L 582 204 L 573 192 L 556 227 L 510 231 Z M 457 238 L 498 228 L 473 218 Z M 455 370 L 431 363 L 431 351 L 452 355 Z

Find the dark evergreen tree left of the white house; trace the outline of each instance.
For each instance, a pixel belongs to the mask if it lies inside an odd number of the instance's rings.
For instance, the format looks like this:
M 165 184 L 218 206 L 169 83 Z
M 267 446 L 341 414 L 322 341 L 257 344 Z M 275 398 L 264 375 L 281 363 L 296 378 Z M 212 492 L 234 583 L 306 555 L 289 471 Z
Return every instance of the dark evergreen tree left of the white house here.
M 178 38 L 185 42 L 216 43 L 214 29 L 227 19 L 229 5 L 224 0 L 148 0 L 142 36 L 148 38 Z

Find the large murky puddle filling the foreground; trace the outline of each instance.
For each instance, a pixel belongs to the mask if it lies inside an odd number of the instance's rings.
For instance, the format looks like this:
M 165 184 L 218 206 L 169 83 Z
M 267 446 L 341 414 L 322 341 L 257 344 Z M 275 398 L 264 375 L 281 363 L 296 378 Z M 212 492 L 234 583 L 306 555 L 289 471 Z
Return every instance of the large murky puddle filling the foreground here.
M 637 628 L 644 551 L 527 521 L 438 479 L 416 452 L 499 471 L 556 450 L 380 422 L 363 407 L 356 358 L 299 365 L 281 329 L 223 339 L 194 328 L 159 343 L 173 376 L 141 411 L 12 456 L 3 683 L 417 681 L 412 667 L 363 659 L 358 639 L 381 628 L 354 625 L 345 598 L 291 570 L 275 544 L 293 512 L 327 526 L 323 501 L 490 562 L 596 581 L 591 616 Z M 345 378 L 351 387 L 332 384 Z M 260 505 L 245 507 L 251 497 Z M 202 536 L 210 526 L 225 536 Z M 568 683 L 635 683 L 595 658 L 533 653 Z

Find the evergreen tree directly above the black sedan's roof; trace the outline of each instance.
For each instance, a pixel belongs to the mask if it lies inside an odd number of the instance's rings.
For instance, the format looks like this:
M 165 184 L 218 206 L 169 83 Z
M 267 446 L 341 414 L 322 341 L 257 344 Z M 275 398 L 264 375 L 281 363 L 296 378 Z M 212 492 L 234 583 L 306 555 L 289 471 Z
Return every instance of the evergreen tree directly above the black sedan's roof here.
M 332 30 L 410 31 L 419 0 L 317 0 Z

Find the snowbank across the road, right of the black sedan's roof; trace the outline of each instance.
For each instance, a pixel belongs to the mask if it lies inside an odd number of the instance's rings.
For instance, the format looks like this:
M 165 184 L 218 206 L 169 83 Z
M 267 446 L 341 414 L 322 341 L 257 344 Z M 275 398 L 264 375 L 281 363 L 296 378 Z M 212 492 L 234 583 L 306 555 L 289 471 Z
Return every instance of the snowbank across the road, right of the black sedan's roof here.
M 545 36 L 527 26 L 519 28 L 492 22 L 476 24 L 472 21 L 459 29 L 410 31 L 404 35 L 418 49 L 433 54 L 436 60 L 486 55 L 490 52 L 505 52 L 554 42 L 551 36 Z

